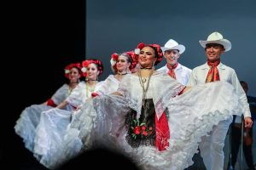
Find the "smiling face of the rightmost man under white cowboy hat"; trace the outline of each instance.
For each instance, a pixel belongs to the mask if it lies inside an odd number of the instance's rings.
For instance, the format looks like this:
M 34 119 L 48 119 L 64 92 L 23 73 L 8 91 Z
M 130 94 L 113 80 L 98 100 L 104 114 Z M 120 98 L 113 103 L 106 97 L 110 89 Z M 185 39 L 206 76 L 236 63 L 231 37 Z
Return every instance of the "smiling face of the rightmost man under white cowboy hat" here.
M 218 43 L 208 43 L 205 48 L 207 59 L 214 62 L 224 53 L 224 47 Z

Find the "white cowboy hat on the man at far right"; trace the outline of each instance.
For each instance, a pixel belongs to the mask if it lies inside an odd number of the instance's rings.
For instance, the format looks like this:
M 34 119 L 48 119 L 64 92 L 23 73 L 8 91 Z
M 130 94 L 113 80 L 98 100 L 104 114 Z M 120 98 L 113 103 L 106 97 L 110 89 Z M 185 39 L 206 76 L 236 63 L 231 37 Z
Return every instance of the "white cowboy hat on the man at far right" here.
M 227 39 L 224 39 L 223 36 L 218 33 L 217 31 L 212 32 L 207 37 L 207 41 L 200 40 L 199 43 L 201 44 L 201 47 L 206 48 L 207 43 L 218 43 L 224 46 L 225 52 L 230 51 L 232 45 L 231 42 Z

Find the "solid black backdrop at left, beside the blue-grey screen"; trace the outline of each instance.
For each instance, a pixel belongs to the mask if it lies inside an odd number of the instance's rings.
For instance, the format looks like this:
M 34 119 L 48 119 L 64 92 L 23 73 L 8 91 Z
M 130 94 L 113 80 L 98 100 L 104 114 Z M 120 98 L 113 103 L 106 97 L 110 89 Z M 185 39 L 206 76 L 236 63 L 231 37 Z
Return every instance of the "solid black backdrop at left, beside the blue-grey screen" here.
M 85 58 L 85 1 L 15 2 L 9 7 L 8 48 L 1 62 L 0 168 L 44 169 L 15 134 L 15 121 L 27 106 L 44 102 L 61 87 L 65 65 Z

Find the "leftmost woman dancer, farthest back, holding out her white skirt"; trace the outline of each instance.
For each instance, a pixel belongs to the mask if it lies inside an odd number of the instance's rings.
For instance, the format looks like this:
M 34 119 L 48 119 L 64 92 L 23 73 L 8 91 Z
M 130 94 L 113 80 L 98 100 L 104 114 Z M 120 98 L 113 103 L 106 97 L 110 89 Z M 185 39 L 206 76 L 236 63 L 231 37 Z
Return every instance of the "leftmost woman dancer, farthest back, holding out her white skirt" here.
M 42 105 L 31 105 L 22 111 L 20 118 L 15 125 L 15 133 L 20 135 L 28 150 L 33 150 L 33 140 L 35 138 L 35 130 L 38 126 L 41 112 L 48 111 L 56 105 L 59 105 L 64 99 L 71 94 L 74 88 L 79 84 L 79 78 L 82 76 L 80 63 L 71 63 L 65 67 L 65 77 L 69 83 L 65 83 L 59 88 L 55 94 L 44 102 Z M 63 107 L 62 109 L 71 111 L 72 107 Z

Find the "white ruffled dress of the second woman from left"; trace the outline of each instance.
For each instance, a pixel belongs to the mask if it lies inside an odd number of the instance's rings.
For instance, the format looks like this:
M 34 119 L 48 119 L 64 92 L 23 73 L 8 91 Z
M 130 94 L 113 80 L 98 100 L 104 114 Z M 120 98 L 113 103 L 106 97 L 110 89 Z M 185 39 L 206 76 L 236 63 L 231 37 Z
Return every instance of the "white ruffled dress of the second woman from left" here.
M 100 83 L 97 83 L 100 84 Z M 97 86 L 96 84 L 96 86 Z M 81 105 L 84 105 L 86 99 L 89 99 L 94 89 L 87 87 L 85 82 L 79 82 L 78 86 L 73 89 L 66 101 L 71 110 L 61 110 L 52 108 L 43 111 L 40 122 L 36 128 L 34 139 L 34 156 L 42 164 L 47 165 L 51 157 L 52 150 L 63 140 L 68 124 L 71 122 L 71 116 Z M 46 166 L 47 167 L 47 166 Z

